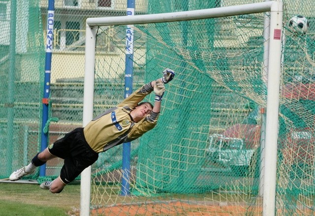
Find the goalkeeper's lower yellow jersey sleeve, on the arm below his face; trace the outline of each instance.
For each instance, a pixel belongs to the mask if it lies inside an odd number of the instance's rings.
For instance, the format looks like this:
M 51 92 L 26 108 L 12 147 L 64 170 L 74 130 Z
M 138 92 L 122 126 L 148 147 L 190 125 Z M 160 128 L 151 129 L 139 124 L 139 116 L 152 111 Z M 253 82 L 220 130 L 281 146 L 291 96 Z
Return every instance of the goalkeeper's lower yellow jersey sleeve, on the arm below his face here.
M 144 133 L 153 129 L 157 125 L 158 115 L 159 113 L 151 112 L 150 115 L 147 115 L 141 121 L 136 123 L 128 133 L 127 139 L 129 141 L 135 140 L 141 137 Z

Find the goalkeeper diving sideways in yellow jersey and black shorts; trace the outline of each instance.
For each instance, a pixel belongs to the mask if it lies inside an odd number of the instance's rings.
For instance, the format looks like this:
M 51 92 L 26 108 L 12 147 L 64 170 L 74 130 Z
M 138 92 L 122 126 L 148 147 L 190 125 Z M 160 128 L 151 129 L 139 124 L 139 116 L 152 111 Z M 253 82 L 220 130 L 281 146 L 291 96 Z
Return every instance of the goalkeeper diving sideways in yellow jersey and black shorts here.
M 95 117 L 84 128 L 74 129 L 37 153 L 29 165 L 13 172 L 9 180 L 20 180 L 32 174 L 36 167 L 59 157 L 64 159 L 60 176 L 53 181 L 41 183 L 40 188 L 60 193 L 65 185 L 95 163 L 100 152 L 133 141 L 156 126 L 165 91 L 164 84 L 171 81 L 174 75 L 174 71 L 165 69 L 161 78 L 143 85 L 116 107 Z M 141 102 L 151 92 L 155 94 L 154 105 Z

